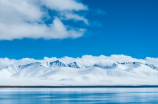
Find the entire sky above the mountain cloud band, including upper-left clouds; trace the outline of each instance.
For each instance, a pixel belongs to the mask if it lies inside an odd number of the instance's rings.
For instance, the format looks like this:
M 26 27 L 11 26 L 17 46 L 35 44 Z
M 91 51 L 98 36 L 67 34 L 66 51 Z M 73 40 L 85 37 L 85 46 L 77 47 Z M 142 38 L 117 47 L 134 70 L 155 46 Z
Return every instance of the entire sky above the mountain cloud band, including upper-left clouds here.
M 1 0 L 0 57 L 158 57 L 157 0 Z

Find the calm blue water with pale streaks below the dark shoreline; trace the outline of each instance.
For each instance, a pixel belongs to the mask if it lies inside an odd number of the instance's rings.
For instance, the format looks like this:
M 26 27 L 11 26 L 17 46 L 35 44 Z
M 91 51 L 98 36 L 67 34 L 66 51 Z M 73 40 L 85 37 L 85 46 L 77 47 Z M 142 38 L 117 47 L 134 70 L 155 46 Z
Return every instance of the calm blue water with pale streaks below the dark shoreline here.
M 158 87 L 0 88 L 0 104 L 158 104 Z

